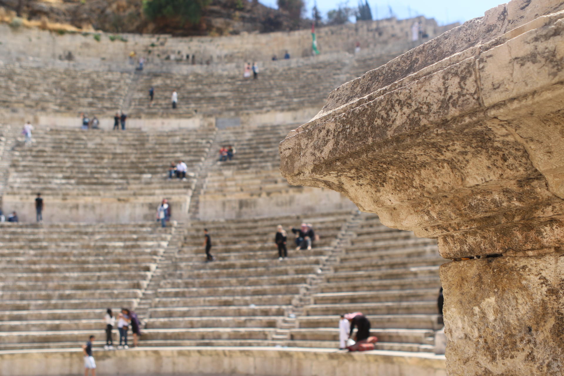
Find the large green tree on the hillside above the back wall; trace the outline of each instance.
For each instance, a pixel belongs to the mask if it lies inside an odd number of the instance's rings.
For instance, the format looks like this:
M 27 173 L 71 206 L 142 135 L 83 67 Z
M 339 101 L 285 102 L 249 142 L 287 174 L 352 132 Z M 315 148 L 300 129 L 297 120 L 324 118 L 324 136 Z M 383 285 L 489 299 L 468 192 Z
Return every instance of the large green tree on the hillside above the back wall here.
M 143 13 L 149 20 L 178 19 L 181 24 L 195 25 L 211 0 L 143 0 Z

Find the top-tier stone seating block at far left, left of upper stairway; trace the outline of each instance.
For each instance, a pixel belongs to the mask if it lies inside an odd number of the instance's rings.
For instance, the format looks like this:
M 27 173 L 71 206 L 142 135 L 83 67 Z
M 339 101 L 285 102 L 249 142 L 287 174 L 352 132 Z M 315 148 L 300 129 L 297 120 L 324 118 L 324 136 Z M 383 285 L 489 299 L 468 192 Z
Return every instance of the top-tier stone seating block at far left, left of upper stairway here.
M 131 73 L 0 66 L 0 108 L 113 116 L 121 108 Z

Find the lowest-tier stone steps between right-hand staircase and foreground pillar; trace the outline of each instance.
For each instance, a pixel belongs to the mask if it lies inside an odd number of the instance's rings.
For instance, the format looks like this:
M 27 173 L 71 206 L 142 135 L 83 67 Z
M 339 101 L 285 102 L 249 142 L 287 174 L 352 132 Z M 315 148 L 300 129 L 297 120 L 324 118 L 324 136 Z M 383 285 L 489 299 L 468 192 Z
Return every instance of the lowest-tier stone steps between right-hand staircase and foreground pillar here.
M 290 337 L 301 346 L 337 347 L 338 315 L 360 311 L 371 320 L 377 348 L 432 351 L 434 330 L 442 326 L 437 297 L 438 266 L 444 262 L 433 240 L 361 214 L 339 262 L 316 285 Z

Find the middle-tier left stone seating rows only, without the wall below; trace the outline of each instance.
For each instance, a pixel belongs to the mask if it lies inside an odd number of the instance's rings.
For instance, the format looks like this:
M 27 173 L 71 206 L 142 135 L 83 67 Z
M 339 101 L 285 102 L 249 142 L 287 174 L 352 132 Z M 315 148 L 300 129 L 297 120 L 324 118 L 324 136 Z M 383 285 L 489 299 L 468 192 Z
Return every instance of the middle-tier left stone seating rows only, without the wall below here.
M 17 148 L 12 157 L 9 189 L 19 194 L 186 190 L 190 182 L 166 182 L 170 163 L 182 159 L 194 171 L 211 143 L 206 129 L 85 132 L 39 127 L 33 136 L 33 147 Z

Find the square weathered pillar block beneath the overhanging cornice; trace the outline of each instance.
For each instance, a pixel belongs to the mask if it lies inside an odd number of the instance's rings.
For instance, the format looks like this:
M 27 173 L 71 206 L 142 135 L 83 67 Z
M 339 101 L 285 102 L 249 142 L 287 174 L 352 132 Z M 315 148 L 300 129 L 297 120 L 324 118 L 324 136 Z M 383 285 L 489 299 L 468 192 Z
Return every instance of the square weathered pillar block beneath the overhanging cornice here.
M 440 276 L 450 376 L 562 374 L 564 253 L 447 263 Z

